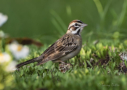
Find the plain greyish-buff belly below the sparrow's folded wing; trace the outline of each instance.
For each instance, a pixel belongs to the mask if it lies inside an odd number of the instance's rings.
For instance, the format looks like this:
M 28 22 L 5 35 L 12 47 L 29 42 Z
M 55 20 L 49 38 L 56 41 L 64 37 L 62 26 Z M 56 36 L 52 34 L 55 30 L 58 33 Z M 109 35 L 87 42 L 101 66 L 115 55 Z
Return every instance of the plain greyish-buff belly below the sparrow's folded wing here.
M 81 48 L 79 47 L 77 50 L 75 50 L 74 52 L 69 53 L 68 55 L 60 58 L 61 61 L 66 61 L 68 59 L 73 58 L 74 56 L 76 56 L 79 52 L 80 52 Z

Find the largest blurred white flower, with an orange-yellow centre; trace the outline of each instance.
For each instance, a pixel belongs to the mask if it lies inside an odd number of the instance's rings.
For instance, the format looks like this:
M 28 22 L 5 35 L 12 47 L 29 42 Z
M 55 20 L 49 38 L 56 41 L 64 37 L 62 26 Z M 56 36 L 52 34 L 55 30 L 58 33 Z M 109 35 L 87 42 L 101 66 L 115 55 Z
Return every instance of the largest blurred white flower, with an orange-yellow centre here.
M 29 47 L 13 42 L 9 45 L 9 50 L 16 59 L 25 58 L 29 54 Z

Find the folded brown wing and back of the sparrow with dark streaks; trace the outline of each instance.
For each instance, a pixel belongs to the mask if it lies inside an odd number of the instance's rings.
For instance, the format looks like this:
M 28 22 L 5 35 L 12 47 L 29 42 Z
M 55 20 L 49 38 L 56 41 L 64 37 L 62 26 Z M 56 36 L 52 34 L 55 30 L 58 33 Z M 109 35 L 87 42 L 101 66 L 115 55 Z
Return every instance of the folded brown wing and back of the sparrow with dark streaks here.
M 57 60 L 76 50 L 77 47 L 78 45 L 75 42 L 74 37 L 65 34 L 62 38 L 57 40 L 47 50 L 44 51 L 44 53 L 41 55 L 43 56 L 43 60 L 39 64 L 49 60 Z

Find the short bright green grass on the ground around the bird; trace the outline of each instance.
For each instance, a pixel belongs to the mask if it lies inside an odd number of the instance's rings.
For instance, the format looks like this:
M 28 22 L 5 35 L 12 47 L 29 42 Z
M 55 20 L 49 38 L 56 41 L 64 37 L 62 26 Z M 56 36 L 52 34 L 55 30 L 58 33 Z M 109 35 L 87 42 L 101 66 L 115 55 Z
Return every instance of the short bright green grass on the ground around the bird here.
M 30 58 L 40 55 L 48 46 L 41 49 L 33 49 L 31 55 L 19 62 L 26 61 Z M 109 47 L 111 50 L 109 50 Z M 66 73 L 58 70 L 58 64 L 51 61 L 36 66 L 32 63 L 23 66 L 19 71 L 13 73 L 15 76 L 15 90 L 119 90 L 126 89 L 127 76 L 119 71 L 120 62 L 119 53 L 125 51 L 127 45 L 115 40 L 102 40 L 94 45 L 92 42 L 85 43 L 79 55 L 70 59 L 69 63 L 73 65 Z M 33 48 L 33 46 L 31 47 Z M 114 52 L 112 50 L 114 50 Z M 95 56 L 96 55 L 96 56 Z M 96 64 L 98 61 L 110 59 L 107 64 Z M 90 58 L 94 59 L 94 64 L 90 63 Z M 106 59 L 107 60 L 107 59 Z

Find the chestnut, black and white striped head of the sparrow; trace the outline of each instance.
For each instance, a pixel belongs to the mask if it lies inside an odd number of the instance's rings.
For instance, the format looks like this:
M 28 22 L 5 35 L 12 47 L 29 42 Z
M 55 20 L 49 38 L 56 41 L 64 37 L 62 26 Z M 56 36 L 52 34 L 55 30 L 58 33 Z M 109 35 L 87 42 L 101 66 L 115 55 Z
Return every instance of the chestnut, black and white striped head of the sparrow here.
M 73 20 L 68 27 L 67 34 L 80 35 L 83 28 L 87 26 L 87 24 L 83 23 L 80 20 Z

